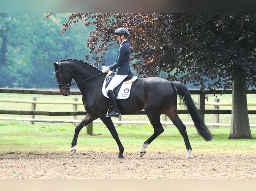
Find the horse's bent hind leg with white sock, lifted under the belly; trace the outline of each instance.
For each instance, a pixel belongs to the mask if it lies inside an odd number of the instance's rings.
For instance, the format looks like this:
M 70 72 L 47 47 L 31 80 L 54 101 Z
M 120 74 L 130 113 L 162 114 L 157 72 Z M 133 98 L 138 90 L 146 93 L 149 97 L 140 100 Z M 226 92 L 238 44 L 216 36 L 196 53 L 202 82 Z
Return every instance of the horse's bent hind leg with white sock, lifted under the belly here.
M 154 128 L 154 133 L 142 144 L 140 156 L 143 156 L 146 153 L 146 148 L 148 147 L 148 145 L 164 131 L 163 126 L 160 122 L 160 115 L 156 115 L 155 113 L 147 113 L 147 117 Z

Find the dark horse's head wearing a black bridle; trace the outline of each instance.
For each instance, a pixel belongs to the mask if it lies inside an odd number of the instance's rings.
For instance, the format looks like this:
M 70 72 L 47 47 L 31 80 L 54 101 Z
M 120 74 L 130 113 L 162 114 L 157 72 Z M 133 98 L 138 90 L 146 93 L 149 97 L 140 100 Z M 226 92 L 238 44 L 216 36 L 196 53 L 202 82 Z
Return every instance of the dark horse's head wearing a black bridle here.
M 72 76 L 70 76 L 70 73 L 68 72 L 64 73 L 60 64 L 53 61 L 52 64 L 54 65 L 54 74 L 58 82 L 60 93 L 65 96 L 69 96 Z

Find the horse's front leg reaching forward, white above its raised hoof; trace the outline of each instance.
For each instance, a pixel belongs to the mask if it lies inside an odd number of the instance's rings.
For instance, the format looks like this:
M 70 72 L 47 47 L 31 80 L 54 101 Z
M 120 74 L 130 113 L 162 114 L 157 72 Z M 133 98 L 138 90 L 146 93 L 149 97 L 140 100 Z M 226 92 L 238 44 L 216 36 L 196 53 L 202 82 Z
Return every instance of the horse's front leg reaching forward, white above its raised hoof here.
M 94 117 L 94 116 L 90 115 L 89 113 L 87 113 L 87 115 L 78 123 L 78 125 L 75 128 L 75 134 L 74 134 L 74 137 L 73 137 L 73 140 L 71 143 L 70 156 L 73 155 L 77 150 L 75 148 L 75 146 L 77 145 L 77 139 L 78 139 L 78 135 L 79 135 L 79 132 L 81 131 L 81 129 L 97 118 L 98 117 Z

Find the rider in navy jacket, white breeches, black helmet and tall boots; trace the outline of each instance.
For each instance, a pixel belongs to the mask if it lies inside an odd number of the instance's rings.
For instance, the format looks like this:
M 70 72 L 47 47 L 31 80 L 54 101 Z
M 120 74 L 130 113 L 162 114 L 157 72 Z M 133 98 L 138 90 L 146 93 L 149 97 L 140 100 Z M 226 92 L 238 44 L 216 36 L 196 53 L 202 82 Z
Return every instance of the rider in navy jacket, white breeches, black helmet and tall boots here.
M 126 28 L 118 28 L 115 31 L 113 37 L 117 38 L 119 42 L 119 51 L 117 54 L 116 62 L 110 66 L 103 66 L 102 72 L 105 73 L 109 70 L 115 70 L 115 75 L 110 81 L 109 85 L 106 88 L 109 99 L 113 105 L 113 111 L 106 113 L 107 117 L 118 117 L 120 111 L 117 104 L 117 97 L 114 94 L 113 90 L 130 74 L 131 69 L 129 65 L 131 49 L 127 40 L 129 32 Z

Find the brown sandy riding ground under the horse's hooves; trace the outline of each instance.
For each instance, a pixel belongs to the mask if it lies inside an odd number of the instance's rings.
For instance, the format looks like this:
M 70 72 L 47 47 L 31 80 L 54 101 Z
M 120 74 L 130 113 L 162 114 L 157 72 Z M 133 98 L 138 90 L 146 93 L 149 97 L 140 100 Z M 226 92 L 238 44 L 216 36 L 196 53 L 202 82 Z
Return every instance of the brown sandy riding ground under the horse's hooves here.
M 184 154 L 84 151 L 65 153 L 0 153 L 0 178 L 17 179 L 255 179 L 256 157 L 242 154 Z

